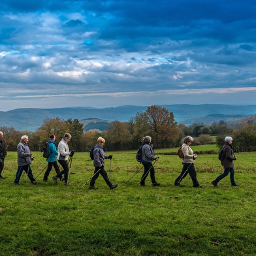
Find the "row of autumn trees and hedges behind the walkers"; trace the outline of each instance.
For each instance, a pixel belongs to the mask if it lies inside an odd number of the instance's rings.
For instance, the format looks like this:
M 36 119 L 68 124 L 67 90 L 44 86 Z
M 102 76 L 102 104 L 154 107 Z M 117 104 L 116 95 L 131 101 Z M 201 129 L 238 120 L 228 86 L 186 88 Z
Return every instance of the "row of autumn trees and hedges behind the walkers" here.
M 78 119 L 63 120 L 61 118 L 46 118 L 35 132 L 16 131 L 14 127 L 0 127 L 3 131 L 8 151 L 16 151 L 22 135 L 29 136 L 31 151 L 40 151 L 49 136 L 56 135 L 56 142 L 68 132 L 72 138 L 69 148 L 76 152 L 89 152 L 95 146 L 99 136 L 106 139 L 105 149 L 108 151 L 135 150 L 140 146 L 144 136 L 152 136 L 154 148 L 174 148 L 182 144 L 187 136 L 195 138 L 194 144 L 217 144 L 223 146 L 225 136 L 232 136 L 236 152 L 256 151 L 256 124 L 227 125 L 224 120 L 212 125 L 193 123 L 186 126 L 174 119 L 173 112 L 161 106 L 149 106 L 145 112 L 137 112 L 128 121 L 112 121 L 106 131 L 84 132 L 84 125 Z M 214 140 L 214 136 L 216 140 Z

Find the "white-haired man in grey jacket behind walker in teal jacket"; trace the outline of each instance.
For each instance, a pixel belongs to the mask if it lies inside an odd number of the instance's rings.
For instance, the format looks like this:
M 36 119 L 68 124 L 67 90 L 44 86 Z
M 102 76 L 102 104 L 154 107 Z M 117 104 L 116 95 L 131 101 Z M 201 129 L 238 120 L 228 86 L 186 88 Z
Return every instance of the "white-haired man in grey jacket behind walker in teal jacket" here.
M 33 161 L 34 157 L 32 157 L 32 153 L 29 150 L 29 146 L 27 145 L 29 142 L 29 137 L 27 135 L 22 136 L 22 140 L 17 146 L 17 162 L 18 162 L 18 170 L 16 173 L 16 178 L 14 180 L 14 185 L 20 185 L 20 177 L 22 176 L 22 172 L 25 171 L 31 184 L 37 185 L 38 182 L 35 181 L 33 177 L 32 170 L 30 168 L 31 162 Z

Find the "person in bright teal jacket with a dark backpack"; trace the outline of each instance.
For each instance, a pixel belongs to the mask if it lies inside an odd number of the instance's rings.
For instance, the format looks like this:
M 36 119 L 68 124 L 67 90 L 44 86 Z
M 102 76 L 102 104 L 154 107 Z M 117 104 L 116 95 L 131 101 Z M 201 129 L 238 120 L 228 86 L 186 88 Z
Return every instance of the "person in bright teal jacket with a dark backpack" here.
M 56 136 L 51 135 L 50 140 L 48 140 L 48 152 L 50 153 L 49 157 L 46 159 L 46 162 L 48 162 L 48 167 L 46 169 L 46 172 L 44 173 L 44 182 L 48 182 L 48 176 L 50 174 L 50 171 L 52 170 L 52 167 L 56 170 L 56 174 L 59 174 L 59 165 L 57 165 L 57 148 L 56 148 Z M 62 176 L 59 177 L 59 180 L 62 179 Z

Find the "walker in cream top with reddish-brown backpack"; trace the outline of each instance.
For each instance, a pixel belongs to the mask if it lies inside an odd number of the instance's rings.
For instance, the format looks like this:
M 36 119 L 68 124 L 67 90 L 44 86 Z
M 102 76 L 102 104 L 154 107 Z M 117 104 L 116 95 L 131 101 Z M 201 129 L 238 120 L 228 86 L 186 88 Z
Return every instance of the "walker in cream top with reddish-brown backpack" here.
M 187 173 L 189 173 L 193 182 L 193 187 L 202 187 L 197 180 L 197 171 L 194 167 L 197 154 L 194 154 L 193 150 L 190 148 L 193 141 L 194 139 L 191 136 L 185 136 L 184 138 L 184 143 L 182 144 L 182 153 L 184 154 L 184 158 L 182 159 L 183 168 L 178 178 L 176 178 L 174 185 L 180 185 L 180 182 L 187 176 Z

